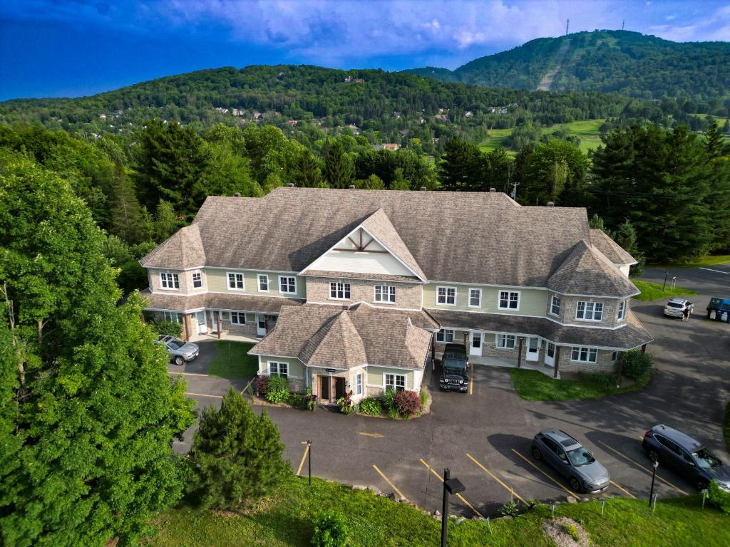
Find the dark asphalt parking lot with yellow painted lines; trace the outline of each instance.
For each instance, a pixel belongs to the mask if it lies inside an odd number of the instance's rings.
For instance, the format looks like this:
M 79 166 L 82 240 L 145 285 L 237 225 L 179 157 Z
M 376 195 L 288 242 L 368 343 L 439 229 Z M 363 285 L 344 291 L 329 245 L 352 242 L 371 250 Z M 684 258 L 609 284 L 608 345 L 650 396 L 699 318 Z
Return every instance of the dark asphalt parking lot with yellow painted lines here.
M 315 476 L 374 486 L 431 511 L 440 511 L 446 467 L 466 485 L 461 497 L 452 498 L 452 510 L 463 516 L 491 516 L 512 499 L 584 497 L 531 456 L 532 437 L 549 427 L 569 432 L 609 470 L 612 483 L 602 496 L 646 498 L 651 465 L 640 439 L 653 424 L 677 427 L 730 462 L 721 433 L 724 404 L 730 398 L 730 325 L 702 319 L 710 296 L 730 292 L 730 274 L 723 273 L 730 272 L 730 266 L 718 269 L 719 273 L 678 274 L 677 284 L 702 291 L 694 298 L 696 315 L 688 323 L 663 317 L 659 303 L 633 303 L 634 312 L 656 338 L 648 350 L 656 370 L 641 392 L 600 400 L 528 402 L 515 394 L 507 369 L 477 365 L 474 384 L 464 395 L 439 392 L 432 375 L 431 413 L 408 422 L 343 416 L 324 408 L 314 413 L 267 411 L 280 428 L 285 457 L 295 473 L 307 473 L 307 447 L 302 443 L 310 440 Z M 663 279 L 664 271 L 649 270 L 646 276 Z M 220 405 L 231 383 L 202 376 L 186 379 L 199 406 Z M 244 383 L 234 382 L 237 389 Z M 176 449 L 189 449 L 190 441 L 191 431 Z M 655 491 L 660 500 L 695 492 L 683 478 L 661 467 Z

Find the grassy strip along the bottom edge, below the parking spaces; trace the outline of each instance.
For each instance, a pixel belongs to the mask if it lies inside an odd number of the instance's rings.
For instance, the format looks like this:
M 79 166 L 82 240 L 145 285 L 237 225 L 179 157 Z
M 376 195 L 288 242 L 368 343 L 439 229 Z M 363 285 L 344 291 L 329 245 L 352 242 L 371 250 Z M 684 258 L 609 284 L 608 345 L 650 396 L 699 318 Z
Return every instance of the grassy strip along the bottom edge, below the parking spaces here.
M 469 486 L 464 492 L 467 500 Z M 730 545 L 730 518 L 709 506 L 702 510 L 700 503 L 699 496 L 660 498 L 652 513 L 645 500 L 622 497 L 607 501 L 604 515 L 596 501 L 558 505 L 555 514 L 583 525 L 591 544 L 598 547 Z M 305 478 L 291 478 L 259 505 L 258 511 L 245 516 L 183 505 L 157 520 L 160 532 L 146 543 L 154 547 L 305 547 L 310 545 L 314 517 L 334 508 L 347 518 L 353 547 L 439 544 L 441 524 L 431 516 L 372 492 L 353 491 L 318 478 L 312 480 L 311 488 Z M 550 507 L 538 505 L 517 519 L 492 521 L 492 533 L 481 521 L 451 521 L 448 543 L 451 547 L 551 547 L 542 531 L 549 518 Z

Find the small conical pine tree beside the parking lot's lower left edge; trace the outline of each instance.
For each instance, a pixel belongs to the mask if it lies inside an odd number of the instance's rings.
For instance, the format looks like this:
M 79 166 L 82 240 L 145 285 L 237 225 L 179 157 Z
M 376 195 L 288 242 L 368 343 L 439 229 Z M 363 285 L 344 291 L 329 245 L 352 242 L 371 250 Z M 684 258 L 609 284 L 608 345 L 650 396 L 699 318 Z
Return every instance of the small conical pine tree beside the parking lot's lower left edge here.
M 231 387 L 220 410 L 204 408 L 190 452 L 193 491 L 207 508 L 237 508 L 272 492 L 289 475 L 279 430 L 266 415 L 256 416 Z

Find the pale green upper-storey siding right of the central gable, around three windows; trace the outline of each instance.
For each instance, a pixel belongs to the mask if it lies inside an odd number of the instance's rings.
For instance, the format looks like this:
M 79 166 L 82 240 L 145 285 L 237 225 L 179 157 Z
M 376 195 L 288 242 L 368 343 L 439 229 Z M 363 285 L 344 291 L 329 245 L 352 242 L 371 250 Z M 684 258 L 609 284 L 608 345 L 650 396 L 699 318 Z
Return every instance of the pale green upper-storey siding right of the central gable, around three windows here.
M 436 303 L 436 287 L 456 287 L 456 306 L 445 306 Z M 469 289 L 482 290 L 482 307 L 469 308 Z M 520 293 L 520 309 L 498 309 L 499 291 L 510 290 Z M 502 287 L 484 287 L 474 285 L 450 285 L 448 283 L 429 283 L 423 287 L 423 307 L 451 309 L 455 311 L 485 311 L 493 314 L 532 315 L 545 317 L 548 306 L 548 291 L 540 289 L 507 289 Z

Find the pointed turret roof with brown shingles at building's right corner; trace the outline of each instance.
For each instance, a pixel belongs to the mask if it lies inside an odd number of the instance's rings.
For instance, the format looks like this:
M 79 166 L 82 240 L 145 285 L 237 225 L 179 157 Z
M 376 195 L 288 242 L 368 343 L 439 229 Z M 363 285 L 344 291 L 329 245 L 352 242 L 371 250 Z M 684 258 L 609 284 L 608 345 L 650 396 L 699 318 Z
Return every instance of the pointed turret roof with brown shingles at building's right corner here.
M 548 279 L 548 289 L 566 295 L 628 297 L 639 290 L 597 247 L 578 241 Z

